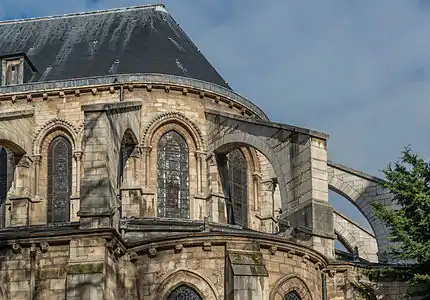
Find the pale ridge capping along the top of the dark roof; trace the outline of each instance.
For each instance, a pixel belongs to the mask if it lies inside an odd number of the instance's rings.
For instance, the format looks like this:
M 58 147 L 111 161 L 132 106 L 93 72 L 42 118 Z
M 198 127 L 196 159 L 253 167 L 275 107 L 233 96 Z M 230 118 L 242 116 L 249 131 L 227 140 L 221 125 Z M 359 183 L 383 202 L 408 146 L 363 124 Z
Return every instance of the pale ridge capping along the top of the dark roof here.
M 141 9 L 149 9 L 149 8 L 160 8 L 160 11 L 166 11 L 166 6 L 164 4 L 145 4 L 145 5 L 136 5 L 129 7 L 120 7 L 120 8 L 110 8 L 110 9 L 99 9 L 92 10 L 87 12 L 76 12 L 76 13 L 68 13 L 63 15 L 53 15 L 53 16 L 43 16 L 43 17 L 34 17 L 34 18 L 24 18 L 24 19 L 11 19 L 0 21 L 0 25 L 11 24 L 11 23 L 23 23 L 23 22 L 31 22 L 31 21 L 46 21 L 52 19 L 62 19 L 62 18 L 73 18 L 87 15 L 100 15 L 100 14 L 109 14 L 109 13 L 117 13 L 117 12 L 125 12 L 125 11 L 133 11 L 133 10 L 141 10 Z

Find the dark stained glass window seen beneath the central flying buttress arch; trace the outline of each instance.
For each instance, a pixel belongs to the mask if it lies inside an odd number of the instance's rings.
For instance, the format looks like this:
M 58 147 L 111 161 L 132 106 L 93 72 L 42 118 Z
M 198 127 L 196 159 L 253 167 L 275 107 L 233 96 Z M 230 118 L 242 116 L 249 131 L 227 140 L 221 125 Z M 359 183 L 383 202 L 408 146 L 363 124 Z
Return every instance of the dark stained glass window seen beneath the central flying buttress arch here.
M 247 164 L 240 150 L 227 154 L 229 224 L 246 226 L 247 223 Z

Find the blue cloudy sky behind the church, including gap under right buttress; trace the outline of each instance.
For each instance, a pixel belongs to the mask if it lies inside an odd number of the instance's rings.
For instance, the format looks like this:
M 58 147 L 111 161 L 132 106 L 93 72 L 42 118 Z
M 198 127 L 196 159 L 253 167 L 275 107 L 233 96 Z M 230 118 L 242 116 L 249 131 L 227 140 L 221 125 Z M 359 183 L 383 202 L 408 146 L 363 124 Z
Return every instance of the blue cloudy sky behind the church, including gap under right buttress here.
M 272 120 L 329 133 L 331 160 L 382 176 L 409 144 L 428 157 L 427 2 L 164 2 L 233 89 Z M 153 3 L 159 1 L 0 0 L 0 19 Z

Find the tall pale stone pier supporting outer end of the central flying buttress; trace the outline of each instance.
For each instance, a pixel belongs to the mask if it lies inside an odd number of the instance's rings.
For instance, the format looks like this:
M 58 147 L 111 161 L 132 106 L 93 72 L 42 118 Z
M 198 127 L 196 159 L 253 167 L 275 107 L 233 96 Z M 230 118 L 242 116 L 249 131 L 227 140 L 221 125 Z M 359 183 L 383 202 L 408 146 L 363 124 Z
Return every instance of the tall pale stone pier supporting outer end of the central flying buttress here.
M 327 144 L 325 140 L 296 133 L 290 143 L 290 186 L 282 203 L 284 217 L 303 233 L 310 246 L 328 257 L 334 255 L 333 208 L 328 202 Z

